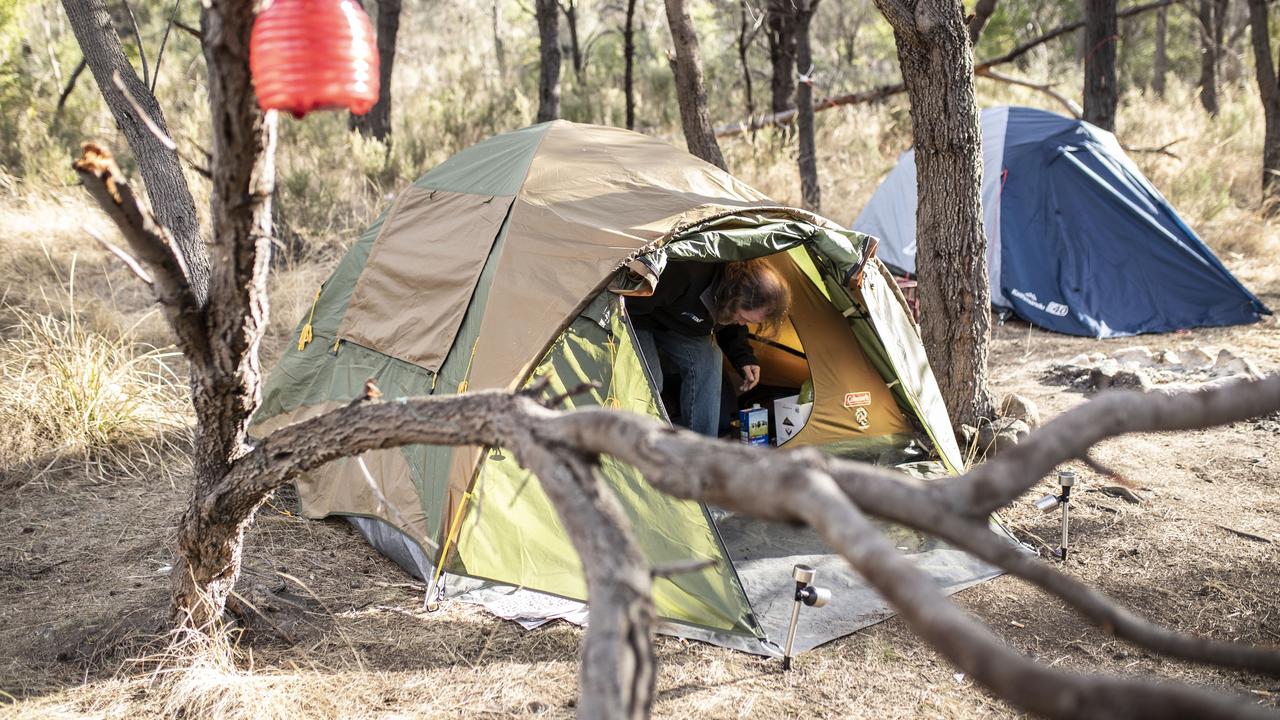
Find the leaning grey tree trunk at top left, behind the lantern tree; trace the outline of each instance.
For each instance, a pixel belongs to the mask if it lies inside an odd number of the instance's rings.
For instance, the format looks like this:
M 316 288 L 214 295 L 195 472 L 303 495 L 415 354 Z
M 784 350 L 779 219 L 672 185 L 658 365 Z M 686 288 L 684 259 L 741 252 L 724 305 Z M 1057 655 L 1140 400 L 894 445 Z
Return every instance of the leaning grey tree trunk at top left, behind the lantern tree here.
M 169 128 L 160 104 L 124 56 L 120 36 L 111 24 L 111 15 L 104 0 L 64 0 L 63 8 L 102 99 L 111 110 L 116 127 L 124 133 L 129 150 L 133 151 L 156 219 L 169 229 L 182 250 L 192 290 L 196 297 L 204 299 L 209 292 L 209 254 L 200 236 L 196 201 L 192 200 L 187 178 L 182 174 L 178 152 L 166 147 L 165 142 L 142 122 L 138 117 L 140 110 L 136 110 L 115 86 L 113 76 L 119 76 L 141 111 L 168 136 Z

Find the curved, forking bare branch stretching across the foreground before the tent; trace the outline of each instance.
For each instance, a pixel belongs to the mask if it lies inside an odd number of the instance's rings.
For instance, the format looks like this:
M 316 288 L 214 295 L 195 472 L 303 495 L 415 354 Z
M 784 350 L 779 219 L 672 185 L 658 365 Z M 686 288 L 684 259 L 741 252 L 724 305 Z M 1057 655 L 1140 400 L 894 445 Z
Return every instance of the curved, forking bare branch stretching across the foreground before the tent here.
M 481 392 L 364 402 L 266 438 L 221 483 L 219 511 L 243 511 L 297 473 L 366 450 L 419 442 L 502 446 L 541 479 L 585 560 L 591 612 L 602 619 L 593 615 L 590 628 L 600 637 L 589 629 L 584 646 L 581 702 L 594 703 L 603 716 L 644 716 L 653 682 L 649 575 L 594 475 L 595 457 L 611 455 L 635 465 L 671 495 L 756 518 L 812 524 L 915 633 L 1023 710 L 1050 717 L 1261 717 L 1268 716 L 1265 710 L 1240 698 L 1037 665 L 946 601 L 928 577 L 868 524 L 864 512 L 936 534 L 1030 580 L 1121 639 L 1184 660 L 1280 675 L 1280 653 L 1274 648 L 1196 638 L 1148 623 L 1012 548 L 986 527 L 996 503 L 991 496 L 1007 503 L 1059 461 L 1085 452 L 1100 439 L 1225 424 L 1277 407 L 1280 378 L 1184 396 L 1112 393 L 1034 433 L 1021 446 L 1021 459 L 1015 450 L 961 478 L 922 483 L 813 450 L 762 452 L 722 443 L 627 413 L 558 413 L 530 395 Z M 614 560 L 618 555 L 622 559 Z M 618 565 L 626 570 L 616 571 Z

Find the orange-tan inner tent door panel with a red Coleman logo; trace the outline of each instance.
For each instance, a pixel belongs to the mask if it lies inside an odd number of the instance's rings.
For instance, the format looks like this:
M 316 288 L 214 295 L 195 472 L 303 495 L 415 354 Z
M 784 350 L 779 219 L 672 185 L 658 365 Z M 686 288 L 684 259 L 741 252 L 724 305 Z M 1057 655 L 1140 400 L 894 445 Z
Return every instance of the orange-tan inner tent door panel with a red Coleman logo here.
M 849 320 L 788 254 L 771 255 L 768 263 L 791 286 L 790 320 L 797 338 L 780 340 L 804 350 L 813 375 L 813 414 L 787 445 L 826 445 L 858 436 L 910 433 L 893 392 L 849 332 Z M 762 375 L 768 378 L 764 365 Z M 865 411 L 865 423 L 859 421 L 861 411 Z

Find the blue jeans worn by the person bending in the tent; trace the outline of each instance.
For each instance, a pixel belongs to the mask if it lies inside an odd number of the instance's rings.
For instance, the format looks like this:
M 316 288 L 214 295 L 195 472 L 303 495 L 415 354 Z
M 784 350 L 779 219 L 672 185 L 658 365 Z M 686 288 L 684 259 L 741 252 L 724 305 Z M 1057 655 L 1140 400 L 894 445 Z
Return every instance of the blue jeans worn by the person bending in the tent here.
M 636 329 L 640 351 L 662 393 L 662 363 L 658 351 L 680 373 L 680 416 L 689 429 L 709 437 L 719 436 L 721 351 L 716 338 L 689 337 L 669 331 Z

